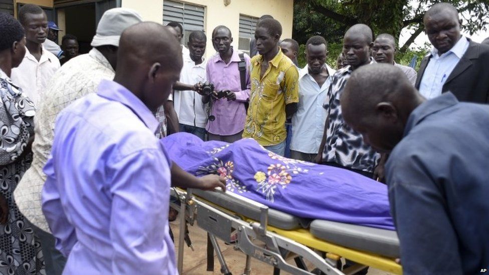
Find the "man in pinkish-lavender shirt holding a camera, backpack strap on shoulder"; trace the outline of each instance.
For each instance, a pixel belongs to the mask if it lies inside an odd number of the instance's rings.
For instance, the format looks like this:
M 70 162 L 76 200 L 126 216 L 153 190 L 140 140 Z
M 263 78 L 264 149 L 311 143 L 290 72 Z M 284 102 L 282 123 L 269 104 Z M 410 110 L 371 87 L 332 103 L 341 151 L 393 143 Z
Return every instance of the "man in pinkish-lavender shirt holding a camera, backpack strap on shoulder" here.
M 207 61 L 207 81 L 214 84 L 215 91 L 210 104 L 210 116 L 215 119 L 207 122 L 209 140 L 232 143 L 241 139 L 246 120 L 244 103 L 250 98 L 250 57 L 243 54 L 246 63 L 246 90 L 241 89 L 238 64 L 239 52 L 231 47 L 231 31 L 225 26 L 217 26 L 212 32 L 212 44 L 217 53 Z M 203 97 L 204 103 L 210 97 Z

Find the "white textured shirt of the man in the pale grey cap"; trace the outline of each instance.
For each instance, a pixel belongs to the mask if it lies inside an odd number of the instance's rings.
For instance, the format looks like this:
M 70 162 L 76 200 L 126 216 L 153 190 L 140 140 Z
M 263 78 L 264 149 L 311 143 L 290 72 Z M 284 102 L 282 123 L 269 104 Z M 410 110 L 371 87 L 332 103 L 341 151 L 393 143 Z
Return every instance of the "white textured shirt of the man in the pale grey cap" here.
M 33 161 L 14 191 L 14 197 L 24 216 L 47 232 L 50 230 L 41 210 L 41 191 L 46 181 L 43 167 L 53 146 L 56 117 L 75 100 L 96 92 L 102 79 L 112 80 L 114 75 L 110 63 L 94 48 L 63 65 L 41 98 L 34 117 Z

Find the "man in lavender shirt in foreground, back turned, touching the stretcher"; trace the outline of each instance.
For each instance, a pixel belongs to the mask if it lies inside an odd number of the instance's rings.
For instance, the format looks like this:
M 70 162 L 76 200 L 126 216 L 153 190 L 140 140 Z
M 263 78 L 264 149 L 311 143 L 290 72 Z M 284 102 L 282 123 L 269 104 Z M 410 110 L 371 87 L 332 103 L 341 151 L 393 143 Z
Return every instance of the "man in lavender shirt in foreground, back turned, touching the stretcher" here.
M 114 81 L 58 116 L 43 212 L 65 274 L 175 274 L 168 204 L 180 168 L 155 137 L 153 112 L 179 78 L 181 48 L 163 26 L 139 23 L 122 33 L 117 65 Z

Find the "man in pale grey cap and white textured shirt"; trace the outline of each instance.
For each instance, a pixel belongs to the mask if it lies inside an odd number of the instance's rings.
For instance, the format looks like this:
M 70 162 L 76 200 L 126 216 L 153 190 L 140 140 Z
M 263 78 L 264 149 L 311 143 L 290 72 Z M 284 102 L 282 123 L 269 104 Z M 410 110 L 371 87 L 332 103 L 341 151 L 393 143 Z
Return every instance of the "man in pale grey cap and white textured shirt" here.
M 122 32 L 142 18 L 133 10 L 108 10 L 100 19 L 90 53 L 80 55 L 59 69 L 43 94 L 35 117 L 34 159 L 14 196 L 20 211 L 35 225 L 41 239 L 47 274 L 61 274 L 66 259 L 55 248 L 55 238 L 41 210 L 41 191 L 46 181 L 43 167 L 51 152 L 57 115 L 73 101 L 94 93 L 103 79 L 112 80 Z

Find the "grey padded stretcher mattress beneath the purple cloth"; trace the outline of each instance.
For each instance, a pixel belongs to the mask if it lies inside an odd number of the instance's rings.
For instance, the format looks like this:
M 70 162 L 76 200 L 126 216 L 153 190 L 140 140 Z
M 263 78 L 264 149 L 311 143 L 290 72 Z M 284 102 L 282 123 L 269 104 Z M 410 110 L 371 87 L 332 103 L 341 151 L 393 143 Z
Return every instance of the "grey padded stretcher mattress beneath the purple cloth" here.
M 222 208 L 260 220 L 260 211 L 256 207 L 225 193 L 198 189 L 192 189 L 192 192 Z M 268 221 L 270 225 L 284 230 L 307 228 L 309 225 L 307 220 L 272 208 L 269 208 Z M 399 257 L 399 240 L 395 231 L 319 219 L 313 220 L 309 227 L 311 234 L 319 239 L 387 257 Z

